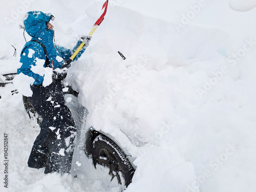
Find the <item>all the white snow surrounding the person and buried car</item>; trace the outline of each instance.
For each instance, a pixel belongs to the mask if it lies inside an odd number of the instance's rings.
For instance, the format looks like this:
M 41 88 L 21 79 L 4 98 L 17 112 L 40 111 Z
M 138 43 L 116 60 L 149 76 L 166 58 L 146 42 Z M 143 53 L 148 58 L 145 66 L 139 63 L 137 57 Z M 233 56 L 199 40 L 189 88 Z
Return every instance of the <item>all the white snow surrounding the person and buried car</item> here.
M 111 133 L 136 158 L 125 191 L 255 192 L 256 9 L 255 2 L 243 1 L 243 8 L 251 9 L 235 11 L 231 2 L 110 1 L 90 46 L 68 70 L 67 81 L 89 111 L 87 126 Z M 20 66 L 25 40 L 18 26 L 26 12 L 52 13 L 56 44 L 72 48 L 78 36 L 91 31 L 103 3 L 2 0 L 0 74 Z M 39 126 L 13 89 L 0 88 L 0 191 L 120 190 L 108 169 L 94 168 L 79 143 L 73 174 L 29 168 Z

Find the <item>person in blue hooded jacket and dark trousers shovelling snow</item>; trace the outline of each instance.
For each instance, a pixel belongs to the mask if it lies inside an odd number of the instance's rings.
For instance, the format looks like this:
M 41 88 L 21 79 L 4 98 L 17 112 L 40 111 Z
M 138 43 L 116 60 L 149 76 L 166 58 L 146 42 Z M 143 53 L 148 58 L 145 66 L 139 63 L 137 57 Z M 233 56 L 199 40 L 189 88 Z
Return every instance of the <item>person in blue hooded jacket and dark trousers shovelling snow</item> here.
M 88 47 L 91 37 L 85 36 L 78 40 L 73 50 L 57 46 L 53 42 L 54 30 L 50 23 L 53 19 L 53 15 L 41 11 L 30 11 L 26 14 L 24 26 L 32 38 L 20 53 L 22 66 L 17 69 L 17 74 L 23 73 L 34 78 L 30 100 L 35 111 L 42 117 L 40 133 L 34 141 L 28 166 L 45 167 L 45 174 L 65 174 L 71 169 L 76 127 L 65 104 L 62 89 L 67 70 L 61 67 L 83 41 L 85 46 L 74 58 L 78 59 Z M 33 69 L 41 59 L 45 60 L 44 68 L 53 69 L 52 83 L 48 86 L 44 86 L 44 81 L 49 81 L 47 75 L 38 74 Z

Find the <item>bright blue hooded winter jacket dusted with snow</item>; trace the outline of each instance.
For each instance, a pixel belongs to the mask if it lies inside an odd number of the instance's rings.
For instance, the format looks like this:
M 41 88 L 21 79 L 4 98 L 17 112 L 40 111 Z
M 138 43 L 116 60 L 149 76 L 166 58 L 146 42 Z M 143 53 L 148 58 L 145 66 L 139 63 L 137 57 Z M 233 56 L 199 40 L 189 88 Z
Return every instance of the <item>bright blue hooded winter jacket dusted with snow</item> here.
M 78 41 L 77 45 L 74 47 L 73 50 L 55 45 L 53 43 L 54 31 L 48 29 L 47 27 L 50 19 L 50 13 L 45 14 L 41 11 L 31 11 L 27 13 L 26 19 L 24 20 L 24 25 L 25 30 L 32 37 L 31 40 L 36 39 L 37 41 L 45 45 L 51 68 L 56 69 L 61 68 L 64 65 L 64 62 L 60 61 L 61 59 L 59 57 L 63 58 L 64 61 L 68 60 L 74 53 L 74 51 L 79 47 L 82 41 Z M 76 55 L 74 60 L 77 60 L 84 52 L 84 50 L 86 50 L 86 48 L 83 48 Z M 28 41 L 25 44 L 22 52 L 20 53 L 19 61 L 22 63 L 22 66 L 17 69 L 17 74 L 23 73 L 25 75 L 33 77 L 35 79 L 33 84 L 42 84 L 42 81 L 44 81 L 44 77 L 35 74 L 30 70 L 32 66 L 36 65 L 36 61 L 38 59 L 46 60 L 44 49 L 40 44 L 38 44 L 38 42 Z

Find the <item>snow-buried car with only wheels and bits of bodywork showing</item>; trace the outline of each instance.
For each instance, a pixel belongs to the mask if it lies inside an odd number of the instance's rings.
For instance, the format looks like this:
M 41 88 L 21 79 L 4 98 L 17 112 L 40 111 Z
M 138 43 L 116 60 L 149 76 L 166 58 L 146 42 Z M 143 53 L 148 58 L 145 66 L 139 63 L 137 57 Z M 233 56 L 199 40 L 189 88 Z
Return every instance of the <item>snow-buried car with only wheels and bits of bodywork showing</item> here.
M 12 83 L 15 73 L 2 75 L 1 87 L 4 87 L 7 83 Z M 3 80 L 3 77 L 8 77 Z M 17 91 L 14 91 L 17 93 Z M 83 130 L 84 134 L 81 136 L 83 139 L 83 151 L 88 158 L 91 158 L 93 164 L 102 165 L 109 169 L 109 175 L 112 176 L 112 180 L 116 180 L 122 188 L 125 189 L 131 182 L 135 173 L 135 165 L 133 164 L 134 158 L 122 147 L 110 133 L 103 133 L 93 126 L 85 126 L 88 110 L 84 108 L 77 99 L 78 93 L 73 91 L 69 87 L 69 91 L 65 92 L 67 106 L 69 107 L 72 116 L 75 120 L 76 126 L 88 127 L 87 130 Z M 67 99 L 71 98 L 71 99 Z M 32 121 L 36 121 L 39 125 L 41 124 L 41 117 L 36 113 L 30 97 L 23 96 L 23 103 L 25 109 Z M 83 125 L 83 126 L 82 126 Z M 78 136 L 79 137 L 79 136 Z

